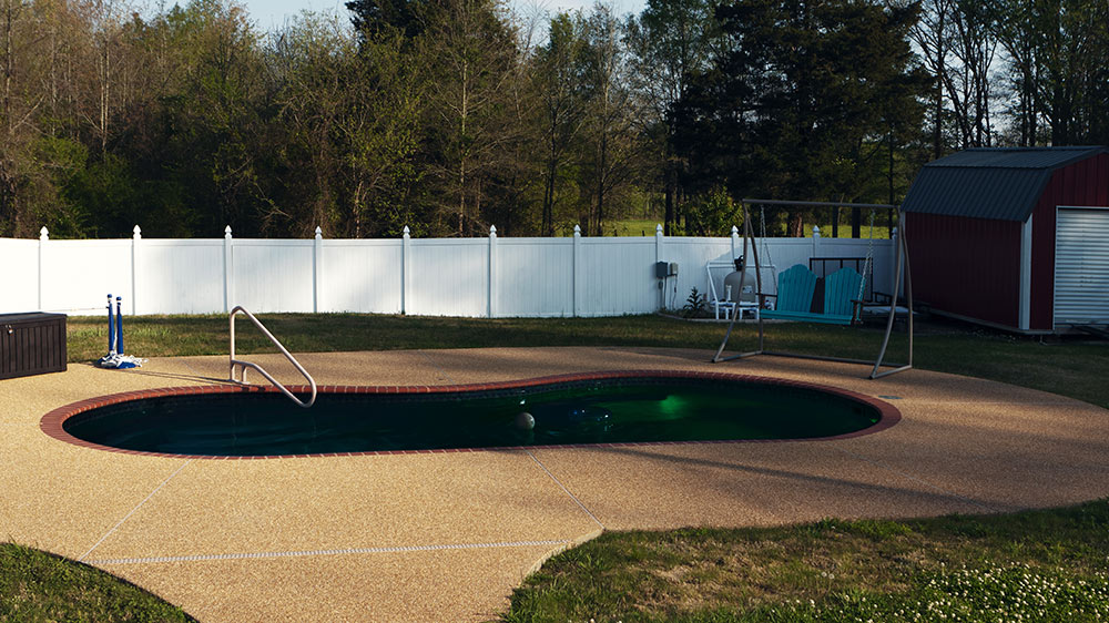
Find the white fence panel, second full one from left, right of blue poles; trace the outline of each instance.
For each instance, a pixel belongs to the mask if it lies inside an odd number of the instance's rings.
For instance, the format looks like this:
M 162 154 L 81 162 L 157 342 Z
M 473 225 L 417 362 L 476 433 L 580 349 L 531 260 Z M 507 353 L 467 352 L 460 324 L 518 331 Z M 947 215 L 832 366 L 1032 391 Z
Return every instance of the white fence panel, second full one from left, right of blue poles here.
M 138 314 L 223 312 L 223 241 L 143 239 L 136 248 Z

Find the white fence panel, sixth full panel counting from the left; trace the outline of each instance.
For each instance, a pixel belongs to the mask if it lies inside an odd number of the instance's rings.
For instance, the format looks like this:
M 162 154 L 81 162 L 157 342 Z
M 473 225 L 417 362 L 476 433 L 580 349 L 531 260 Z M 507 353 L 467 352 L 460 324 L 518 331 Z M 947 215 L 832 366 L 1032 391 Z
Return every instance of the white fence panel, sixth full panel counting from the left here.
M 497 241 L 496 315 L 573 315 L 573 238 Z

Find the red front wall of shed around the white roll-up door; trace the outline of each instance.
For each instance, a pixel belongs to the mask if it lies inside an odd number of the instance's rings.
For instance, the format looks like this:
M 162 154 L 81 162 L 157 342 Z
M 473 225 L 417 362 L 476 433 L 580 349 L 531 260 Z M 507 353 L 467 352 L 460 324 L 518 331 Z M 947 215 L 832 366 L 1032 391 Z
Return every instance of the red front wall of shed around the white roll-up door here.
M 1060 205 L 1109 205 L 1109 154 L 1056 171 L 1032 211 L 1031 329 L 1055 328 L 1055 208 Z

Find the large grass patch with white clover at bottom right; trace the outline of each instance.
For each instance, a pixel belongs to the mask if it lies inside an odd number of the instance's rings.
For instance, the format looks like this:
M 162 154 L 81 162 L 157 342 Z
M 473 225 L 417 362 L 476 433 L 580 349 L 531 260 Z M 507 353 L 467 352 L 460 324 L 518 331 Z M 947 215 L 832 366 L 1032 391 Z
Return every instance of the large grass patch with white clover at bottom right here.
M 991 517 L 610 532 L 505 621 L 1103 621 L 1109 503 Z

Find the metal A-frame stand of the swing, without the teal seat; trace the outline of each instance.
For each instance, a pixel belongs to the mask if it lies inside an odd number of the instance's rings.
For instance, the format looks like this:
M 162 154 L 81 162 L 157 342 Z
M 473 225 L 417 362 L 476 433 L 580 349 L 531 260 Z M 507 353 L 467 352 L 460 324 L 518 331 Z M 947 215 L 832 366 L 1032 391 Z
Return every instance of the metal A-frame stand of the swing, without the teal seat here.
M 734 359 L 745 359 L 747 357 L 754 357 L 756 355 L 770 355 L 772 357 L 793 357 L 800 359 L 814 359 L 818 361 L 837 361 L 843 364 L 861 364 L 864 366 L 873 366 L 871 374 L 867 378 L 877 379 L 885 376 L 889 376 L 897 372 L 903 372 L 905 370 L 913 368 L 913 278 L 908 266 L 908 252 L 905 246 L 905 213 L 901 211 L 897 206 L 885 205 L 885 204 L 869 204 L 869 203 L 833 203 L 833 202 L 801 202 L 801 201 L 774 201 L 774 200 L 752 200 L 744 198 L 741 201 L 743 206 L 743 256 L 751 257 L 754 259 L 754 270 L 755 270 L 755 287 L 757 288 L 757 302 L 759 306 L 763 307 L 766 302 L 766 294 L 763 293 L 762 287 L 762 270 L 761 264 L 759 263 L 759 248 L 754 243 L 754 232 L 751 228 L 751 213 L 749 211 L 749 205 L 792 205 L 792 206 L 803 206 L 803 207 L 868 207 L 871 210 L 876 210 L 879 207 L 897 210 L 897 222 L 901 226 L 901 232 L 897 236 L 897 262 L 895 266 L 895 278 L 894 278 L 894 292 L 891 294 L 889 300 L 889 314 L 886 318 L 886 331 L 882 339 L 882 348 L 878 350 L 878 356 L 873 361 L 869 359 L 853 359 L 846 357 L 828 357 L 823 355 L 807 355 L 802 353 L 786 353 L 782 350 L 766 350 L 764 348 L 764 330 L 763 330 L 763 318 L 759 315 L 759 349 L 750 350 L 746 353 L 740 353 L 739 355 L 732 355 L 730 357 L 721 357 L 724 353 L 724 348 L 728 346 L 728 340 L 732 336 L 732 329 L 735 327 L 735 320 L 739 318 L 741 312 L 739 306 L 732 313 L 731 321 L 728 324 L 728 333 L 724 334 L 724 339 L 720 343 L 720 348 L 716 349 L 716 355 L 713 356 L 712 362 L 720 364 L 722 361 L 731 361 Z M 872 222 L 873 225 L 873 222 Z M 765 224 L 763 224 L 765 227 Z M 763 237 L 765 238 L 766 232 L 763 232 Z M 873 241 L 873 231 L 872 231 Z M 872 242 L 873 244 L 873 242 Z M 750 255 L 749 255 L 750 253 Z M 746 278 L 746 270 L 750 262 L 743 264 L 741 270 L 741 282 L 744 283 Z M 886 348 L 889 346 L 889 335 L 893 333 L 894 320 L 897 316 L 897 295 L 902 290 L 902 285 L 905 286 L 905 298 L 908 309 L 908 361 L 904 365 L 902 364 L 886 364 L 884 362 L 886 356 Z M 862 297 L 861 297 L 862 298 Z M 891 368 L 883 370 L 882 368 Z

